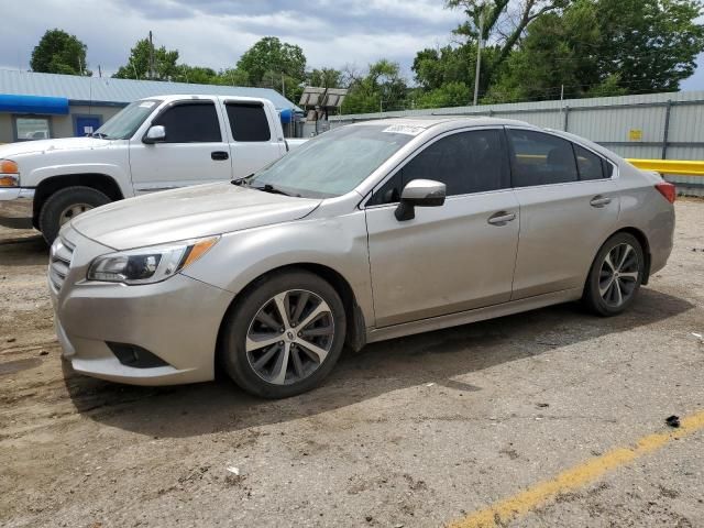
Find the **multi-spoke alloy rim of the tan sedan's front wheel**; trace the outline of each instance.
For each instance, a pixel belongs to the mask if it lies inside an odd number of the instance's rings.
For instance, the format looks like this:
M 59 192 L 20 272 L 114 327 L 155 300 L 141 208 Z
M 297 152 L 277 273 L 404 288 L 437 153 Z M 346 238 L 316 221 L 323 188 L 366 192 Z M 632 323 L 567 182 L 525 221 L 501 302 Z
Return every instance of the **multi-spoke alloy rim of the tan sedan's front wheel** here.
M 334 319 L 317 294 L 277 294 L 256 312 L 246 334 L 250 366 L 275 385 L 300 382 L 316 372 L 332 349 Z

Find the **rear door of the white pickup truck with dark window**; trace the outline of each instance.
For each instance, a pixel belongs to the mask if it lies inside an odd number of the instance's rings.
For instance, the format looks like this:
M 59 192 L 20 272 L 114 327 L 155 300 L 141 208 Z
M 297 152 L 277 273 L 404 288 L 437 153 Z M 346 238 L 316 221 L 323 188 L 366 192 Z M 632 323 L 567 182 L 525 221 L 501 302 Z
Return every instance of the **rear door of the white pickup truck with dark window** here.
M 255 173 L 285 153 L 284 138 L 277 138 L 278 116 L 261 102 L 224 99 L 233 178 Z

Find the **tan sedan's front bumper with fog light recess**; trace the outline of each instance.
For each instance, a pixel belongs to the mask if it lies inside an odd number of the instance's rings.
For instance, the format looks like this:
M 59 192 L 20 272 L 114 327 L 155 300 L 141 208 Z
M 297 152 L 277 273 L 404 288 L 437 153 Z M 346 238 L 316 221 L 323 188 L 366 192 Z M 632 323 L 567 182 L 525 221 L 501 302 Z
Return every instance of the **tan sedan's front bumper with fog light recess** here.
M 175 275 L 156 284 L 125 286 L 88 282 L 92 258 L 113 250 L 63 230 L 75 246 L 59 288 L 50 279 L 56 333 L 76 372 L 134 385 L 173 385 L 215 377 L 222 317 L 233 295 Z M 165 362 L 135 367 L 121 363 L 108 342 L 144 349 Z

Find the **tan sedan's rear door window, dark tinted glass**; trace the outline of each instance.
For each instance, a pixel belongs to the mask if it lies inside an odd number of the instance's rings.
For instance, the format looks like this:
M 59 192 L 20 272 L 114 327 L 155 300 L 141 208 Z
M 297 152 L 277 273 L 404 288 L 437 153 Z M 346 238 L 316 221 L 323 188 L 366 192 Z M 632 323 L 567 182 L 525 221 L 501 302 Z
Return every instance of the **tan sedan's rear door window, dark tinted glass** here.
M 508 130 L 513 147 L 513 185 L 564 184 L 578 180 L 572 143 L 530 130 Z

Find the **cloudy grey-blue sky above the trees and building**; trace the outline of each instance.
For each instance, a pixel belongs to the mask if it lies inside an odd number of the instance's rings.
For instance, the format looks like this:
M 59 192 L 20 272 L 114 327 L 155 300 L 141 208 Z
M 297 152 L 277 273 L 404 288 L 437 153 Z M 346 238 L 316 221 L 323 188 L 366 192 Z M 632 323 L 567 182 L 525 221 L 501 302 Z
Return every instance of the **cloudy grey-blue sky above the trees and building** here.
M 416 52 L 444 45 L 462 20 L 442 0 L 7 0 L 0 67 L 29 69 L 33 47 L 59 28 L 88 45 L 96 75 L 127 63 L 139 38 L 154 32 L 157 46 L 176 48 L 180 62 L 233 67 L 267 35 L 302 47 L 309 67 L 342 67 L 386 57 L 410 76 Z M 683 82 L 704 89 L 704 72 Z

